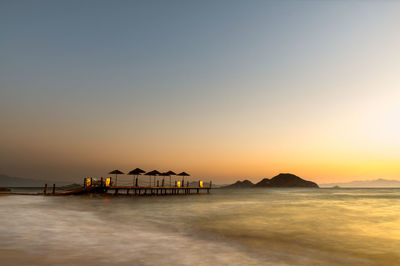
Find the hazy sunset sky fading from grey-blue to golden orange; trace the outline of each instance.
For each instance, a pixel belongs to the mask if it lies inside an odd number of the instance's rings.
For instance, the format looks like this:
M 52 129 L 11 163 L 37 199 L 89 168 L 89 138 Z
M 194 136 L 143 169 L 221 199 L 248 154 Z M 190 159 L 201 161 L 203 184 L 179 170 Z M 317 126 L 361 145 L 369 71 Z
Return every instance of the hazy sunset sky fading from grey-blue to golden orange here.
M 0 1 L 0 173 L 400 180 L 398 1 Z

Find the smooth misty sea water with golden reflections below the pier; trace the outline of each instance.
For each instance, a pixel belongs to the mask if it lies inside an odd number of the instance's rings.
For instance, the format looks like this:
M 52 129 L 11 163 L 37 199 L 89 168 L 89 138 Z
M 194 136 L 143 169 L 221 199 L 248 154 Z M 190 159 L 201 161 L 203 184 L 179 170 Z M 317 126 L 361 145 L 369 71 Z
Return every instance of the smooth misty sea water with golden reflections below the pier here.
M 400 189 L 1 196 L 2 265 L 399 265 Z

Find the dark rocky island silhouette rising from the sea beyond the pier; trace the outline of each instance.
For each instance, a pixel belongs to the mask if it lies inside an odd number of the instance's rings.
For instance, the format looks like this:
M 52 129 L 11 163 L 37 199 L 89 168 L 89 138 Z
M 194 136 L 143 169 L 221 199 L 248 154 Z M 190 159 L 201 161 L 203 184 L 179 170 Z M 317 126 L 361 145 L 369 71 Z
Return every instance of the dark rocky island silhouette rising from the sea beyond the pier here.
M 314 182 L 304 180 L 293 174 L 279 174 L 271 179 L 264 178 L 260 182 L 253 184 L 248 180 L 237 181 L 236 183 L 225 186 L 225 188 L 249 188 L 249 187 L 309 187 L 318 188 Z

